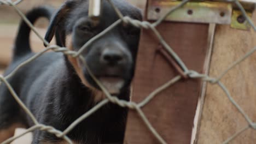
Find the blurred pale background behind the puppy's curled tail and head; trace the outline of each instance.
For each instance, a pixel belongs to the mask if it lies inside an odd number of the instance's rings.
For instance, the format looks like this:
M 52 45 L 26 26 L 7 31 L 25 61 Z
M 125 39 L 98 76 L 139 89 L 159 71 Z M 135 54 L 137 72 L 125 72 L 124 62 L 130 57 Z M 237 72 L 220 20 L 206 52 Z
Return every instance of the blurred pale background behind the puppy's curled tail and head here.
M 143 4 L 146 0 L 127 1 L 139 8 L 143 8 Z M 18 5 L 18 8 L 23 13 L 26 13 L 26 11 L 37 7 L 38 5 L 52 5 L 57 9 L 63 2 L 65 2 L 65 0 L 23 0 Z M 12 7 L 9 7 L 8 5 L 0 5 L 0 74 L 3 73 L 3 70 L 10 62 L 11 49 L 13 47 L 13 41 L 16 37 L 16 31 L 19 27 L 20 20 L 20 16 Z M 40 19 L 36 22 L 36 27 L 40 34 L 43 36 L 45 34 L 45 28 L 47 24 L 48 21 L 45 19 Z M 31 33 L 31 45 L 34 51 L 40 51 L 44 49 L 42 41 L 39 40 L 33 32 Z

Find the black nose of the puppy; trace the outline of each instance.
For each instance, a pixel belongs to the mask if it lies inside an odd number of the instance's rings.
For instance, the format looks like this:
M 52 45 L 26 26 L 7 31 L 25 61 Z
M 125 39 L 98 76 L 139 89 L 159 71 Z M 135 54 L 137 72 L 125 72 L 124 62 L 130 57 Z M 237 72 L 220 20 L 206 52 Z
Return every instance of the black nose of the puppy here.
M 123 52 L 115 49 L 105 49 L 102 52 L 102 61 L 107 64 L 118 64 L 124 60 Z

